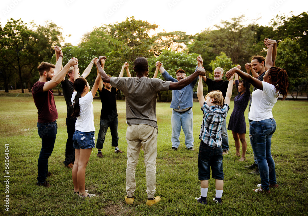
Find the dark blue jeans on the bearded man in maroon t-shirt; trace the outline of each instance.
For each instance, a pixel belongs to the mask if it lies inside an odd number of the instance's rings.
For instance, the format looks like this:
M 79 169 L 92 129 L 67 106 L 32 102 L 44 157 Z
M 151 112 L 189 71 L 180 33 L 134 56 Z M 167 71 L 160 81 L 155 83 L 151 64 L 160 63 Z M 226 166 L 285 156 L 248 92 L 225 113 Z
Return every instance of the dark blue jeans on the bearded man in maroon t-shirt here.
M 38 160 L 38 183 L 44 183 L 48 174 L 48 158 L 54 150 L 57 136 L 57 121 L 49 123 L 38 122 L 38 133 L 42 139 L 42 148 Z

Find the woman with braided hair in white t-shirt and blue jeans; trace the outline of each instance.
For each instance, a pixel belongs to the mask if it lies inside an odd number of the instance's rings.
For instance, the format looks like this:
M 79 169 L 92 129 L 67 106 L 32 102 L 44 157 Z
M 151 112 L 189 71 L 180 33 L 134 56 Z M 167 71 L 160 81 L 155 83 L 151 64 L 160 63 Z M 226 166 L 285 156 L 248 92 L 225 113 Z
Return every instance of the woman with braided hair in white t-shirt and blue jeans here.
M 253 78 L 249 74 L 232 68 L 226 77 L 237 73 L 242 79 L 251 83 L 257 90 L 253 91 L 252 104 L 249 112 L 249 138 L 254 156 L 257 158 L 261 184 L 254 189 L 255 192 L 270 193 L 270 187 L 278 187 L 276 182 L 275 162 L 271 155 L 271 138 L 276 130 L 276 122 L 272 108 L 277 102 L 278 95 L 282 100 L 289 91 L 288 75 L 285 69 L 271 67 L 265 72 L 263 81 Z

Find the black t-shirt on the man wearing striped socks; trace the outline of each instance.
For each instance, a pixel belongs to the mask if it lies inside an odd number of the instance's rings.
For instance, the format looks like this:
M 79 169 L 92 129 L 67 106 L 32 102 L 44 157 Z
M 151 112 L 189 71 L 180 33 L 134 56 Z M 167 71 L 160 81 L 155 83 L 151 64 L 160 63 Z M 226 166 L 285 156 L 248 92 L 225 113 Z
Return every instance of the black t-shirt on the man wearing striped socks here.
M 116 110 L 116 88 L 111 88 L 111 91 L 103 88 L 98 91 L 100 100 L 102 102 L 102 111 L 100 119 L 110 119 L 118 116 Z

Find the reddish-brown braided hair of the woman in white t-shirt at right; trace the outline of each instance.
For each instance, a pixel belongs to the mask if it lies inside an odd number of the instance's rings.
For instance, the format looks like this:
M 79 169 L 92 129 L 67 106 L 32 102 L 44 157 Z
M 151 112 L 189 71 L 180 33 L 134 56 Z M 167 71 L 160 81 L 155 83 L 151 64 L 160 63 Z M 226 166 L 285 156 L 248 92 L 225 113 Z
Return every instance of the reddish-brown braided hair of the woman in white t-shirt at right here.
M 268 71 L 268 75 L 272 77 L 276 92 L 279 91 L 279 94 L 283 96 L 282 100 L 284 100 L 289 91 L 289 81 L 286 70 L 280 67 L 271 67 Z

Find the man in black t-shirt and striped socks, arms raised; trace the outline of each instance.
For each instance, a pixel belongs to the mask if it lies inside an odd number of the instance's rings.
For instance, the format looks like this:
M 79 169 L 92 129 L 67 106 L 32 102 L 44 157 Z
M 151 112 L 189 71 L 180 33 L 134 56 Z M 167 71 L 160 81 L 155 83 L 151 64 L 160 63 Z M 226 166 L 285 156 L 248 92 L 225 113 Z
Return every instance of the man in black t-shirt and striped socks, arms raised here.
M 102 60 L 102 68 L 104 69 L 105 66 L 105 60 Z M 124 63 L 122 66 L 121 72 L 119 77 L 123 77 L 124 68 L 126 68 L 127 76 L 132 77 L 129 69 L 129 64 L 127 62 Z M 98 71 L 97 71 L 98 73 Z M 109 76 L 109 75 L 108 75 Z M 104 85 L 104 88 L 103 88 Z M 118 89 L 111 87 L 110 83 L 103 83 L 101 81 L 99 85 L 99 97 L 102 102 L 102 111 L 100 114 L 100 122 L 99 122 L 99 132 L 98 132 L 98 138 L 96 142 L 96 148 L 98 150 L 97 156 L 103 157 L 102 149 L 103 144 L 105 141 L 105 136 L 108 127 L 110 128 L 111 132 L 111 146 L 115 147 L 115 153 L 123 153 L 119 149 L 118 146 L 118 112 L 116 109 L 116 92 Z

